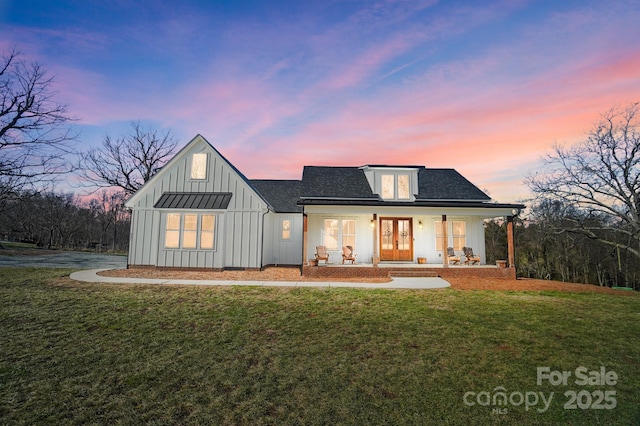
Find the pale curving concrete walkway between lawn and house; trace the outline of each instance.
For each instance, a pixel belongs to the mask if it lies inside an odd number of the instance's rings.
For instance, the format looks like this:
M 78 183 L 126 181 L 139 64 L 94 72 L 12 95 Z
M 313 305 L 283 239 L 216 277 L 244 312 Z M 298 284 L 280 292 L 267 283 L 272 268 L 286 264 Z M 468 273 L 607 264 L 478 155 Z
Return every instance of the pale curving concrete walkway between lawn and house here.
M 404 289 L 433 289 L 450 287 L 442 278 L 393 278 L 388 283 L 351 283 L 329 281 L 234 281 L 234 280 L 169 280 L 158 278 L 122 278 L 103 277 L 98 272 L 108 269 L 89 269 L 71 274 L 71 279 L 88 283 L 112 284 L 179 284 L 179 285 L 242 285 L 261 287 L 353 287 L 353 288 L 404 288 Z

